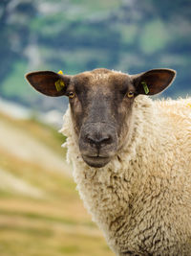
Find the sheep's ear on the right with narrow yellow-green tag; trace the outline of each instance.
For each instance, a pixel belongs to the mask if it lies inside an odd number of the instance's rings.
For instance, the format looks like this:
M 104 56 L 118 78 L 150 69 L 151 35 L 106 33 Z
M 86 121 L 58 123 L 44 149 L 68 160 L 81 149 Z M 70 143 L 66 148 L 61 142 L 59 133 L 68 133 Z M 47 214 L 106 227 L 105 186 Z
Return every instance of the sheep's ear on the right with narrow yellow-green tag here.
M 166 89 L 176 77 L 173 69 L 152 69 L 133 75 L 133 82 L 138 94 L 155 95 Z

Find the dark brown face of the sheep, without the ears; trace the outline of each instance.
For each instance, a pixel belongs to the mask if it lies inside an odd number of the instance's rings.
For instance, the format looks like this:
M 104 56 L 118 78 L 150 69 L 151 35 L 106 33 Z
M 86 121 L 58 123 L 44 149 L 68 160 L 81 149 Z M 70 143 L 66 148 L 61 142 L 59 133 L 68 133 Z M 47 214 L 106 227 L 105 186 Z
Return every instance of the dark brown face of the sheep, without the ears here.
M 72 79 L 66 95 L 79 150 L 88 165 L 102 167 L 116 154 L 123 121 L 131 118 L 135 93 L 130 77 L 105 69 Z

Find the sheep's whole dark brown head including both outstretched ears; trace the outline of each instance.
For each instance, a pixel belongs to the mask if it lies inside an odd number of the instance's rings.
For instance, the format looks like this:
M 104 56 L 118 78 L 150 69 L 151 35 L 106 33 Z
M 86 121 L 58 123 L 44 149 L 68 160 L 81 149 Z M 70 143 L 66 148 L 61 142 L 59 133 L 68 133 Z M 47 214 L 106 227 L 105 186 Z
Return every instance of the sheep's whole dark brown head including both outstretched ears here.
M 105 166 L 128 137 L 135 97 L 159 93 L 174 77 L 175 72 L 169 69 L 135 76 L 107 69 L 76 76 L 61 76 L 50 71 L 27 75 L 38 91 L 49 96 L 69 97 L 82 158 L 96 168 Z M 57 81 L 62 81 L 58 87 Z

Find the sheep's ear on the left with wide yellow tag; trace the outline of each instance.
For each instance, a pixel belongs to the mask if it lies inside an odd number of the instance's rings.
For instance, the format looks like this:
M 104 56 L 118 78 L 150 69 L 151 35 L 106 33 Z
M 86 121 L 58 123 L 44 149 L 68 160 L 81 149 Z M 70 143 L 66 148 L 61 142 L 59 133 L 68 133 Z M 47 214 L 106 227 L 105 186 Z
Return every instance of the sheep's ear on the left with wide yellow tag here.
M 32 87 L 48 96 L 58 97 L 65 95 L 71 76 L 54 73 L 53 71 L 37 71 L 26 75 Z

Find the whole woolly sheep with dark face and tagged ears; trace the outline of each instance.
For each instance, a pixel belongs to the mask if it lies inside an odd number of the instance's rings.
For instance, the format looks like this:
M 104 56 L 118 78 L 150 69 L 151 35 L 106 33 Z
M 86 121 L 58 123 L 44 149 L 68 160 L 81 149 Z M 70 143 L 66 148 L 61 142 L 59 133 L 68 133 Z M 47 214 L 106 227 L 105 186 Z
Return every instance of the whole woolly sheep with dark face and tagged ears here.
M 172 69 L 26 78 L 68 96 L 61 132 L 80 198 L 119 256 L 191 255 L 191 99 L 152 100 Z

